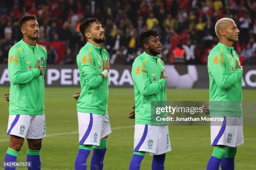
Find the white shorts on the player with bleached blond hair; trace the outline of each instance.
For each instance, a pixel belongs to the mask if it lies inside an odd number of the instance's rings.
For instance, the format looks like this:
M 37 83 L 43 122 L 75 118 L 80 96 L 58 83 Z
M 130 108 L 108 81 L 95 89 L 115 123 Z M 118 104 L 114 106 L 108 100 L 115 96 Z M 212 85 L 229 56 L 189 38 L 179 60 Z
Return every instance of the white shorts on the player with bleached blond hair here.
M 213 116 L 221 117 L 221 116 Z M 243 144 L 243 117 L 224 116 L 222 126 L 211 125 L 211 145 L 236 147 Z M 212 122 L 211 122 L 212 124 Z

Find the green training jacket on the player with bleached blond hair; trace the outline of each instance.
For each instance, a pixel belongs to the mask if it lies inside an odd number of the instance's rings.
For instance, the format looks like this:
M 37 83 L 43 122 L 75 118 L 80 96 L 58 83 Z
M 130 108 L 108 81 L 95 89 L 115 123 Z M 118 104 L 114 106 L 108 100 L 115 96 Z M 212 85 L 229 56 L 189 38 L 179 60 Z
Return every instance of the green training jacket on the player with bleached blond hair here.
M 242 74 L 236 68 L 239 60 L 234 47 L 218 43 L 208 56 L 210 80 L 209 110 L 211 116 L 242 115 Z

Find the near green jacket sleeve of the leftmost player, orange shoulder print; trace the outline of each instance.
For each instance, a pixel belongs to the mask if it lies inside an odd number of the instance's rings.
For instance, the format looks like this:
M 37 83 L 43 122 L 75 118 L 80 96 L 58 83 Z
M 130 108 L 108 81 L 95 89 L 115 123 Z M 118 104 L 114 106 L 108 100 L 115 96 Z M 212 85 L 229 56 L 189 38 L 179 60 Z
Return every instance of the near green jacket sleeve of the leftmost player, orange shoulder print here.
M 38 77 L 40 70 L 33 68 L 27 72 L 22 72 L 22 57 L 18 54 L 15 49 L 10 49 L 8 56 L 8 72 L 10 82 L 13 85 L 23 84 L 30 82 L 34 77 Z

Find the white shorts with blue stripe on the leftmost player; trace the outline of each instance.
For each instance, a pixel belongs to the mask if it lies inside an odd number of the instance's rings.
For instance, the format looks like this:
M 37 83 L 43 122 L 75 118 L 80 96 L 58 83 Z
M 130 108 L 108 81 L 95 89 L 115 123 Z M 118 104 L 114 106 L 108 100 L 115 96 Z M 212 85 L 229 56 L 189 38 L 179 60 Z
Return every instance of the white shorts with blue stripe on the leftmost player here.
M 41 139 L 46 135 L 44 115 L 9 115 L 7 135 Z

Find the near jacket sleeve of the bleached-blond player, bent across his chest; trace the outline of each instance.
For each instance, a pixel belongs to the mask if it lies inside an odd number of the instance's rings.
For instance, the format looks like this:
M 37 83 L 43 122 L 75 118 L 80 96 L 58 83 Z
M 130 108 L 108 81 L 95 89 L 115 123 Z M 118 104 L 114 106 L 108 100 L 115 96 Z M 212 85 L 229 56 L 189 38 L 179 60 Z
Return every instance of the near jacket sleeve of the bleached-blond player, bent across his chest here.
M 218 55 L 210 55 L 208 58 L 208 67 L 217 86 L 221 89 L 233 85 L 243 74 L 241 69 L 236 69 L 230 75 L 227 75 L 225 72 L 226 61 L 224 60 L 222 53 Z

